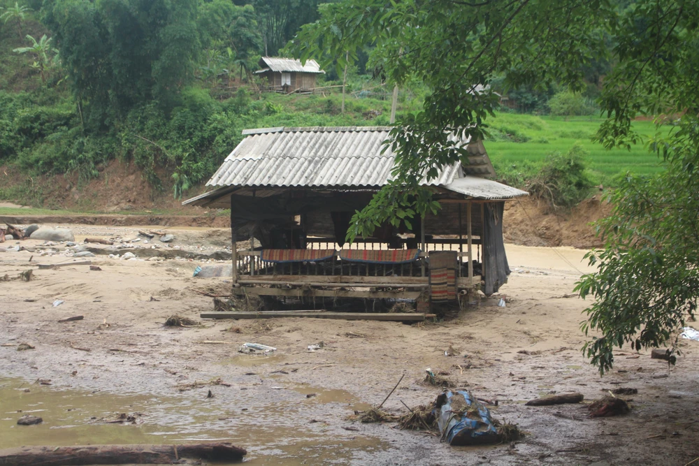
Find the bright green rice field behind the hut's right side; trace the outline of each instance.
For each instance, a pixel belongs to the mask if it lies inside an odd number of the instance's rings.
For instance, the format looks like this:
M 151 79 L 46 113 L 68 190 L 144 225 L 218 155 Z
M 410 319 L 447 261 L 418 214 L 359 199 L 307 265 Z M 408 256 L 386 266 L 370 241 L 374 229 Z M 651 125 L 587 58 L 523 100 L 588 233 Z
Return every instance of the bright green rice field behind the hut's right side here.
M 499 177 L 511 184 L 517 178 L 526 179 L 535 173 L 547 154 L 565 153 L 575 143 L 584 147 L 587 167 L 596 183 L 614 186 L 615 178 L 630 171 L 650 175 L 662 170 L 658 156 L 649 152 L 647 137 L 658 131 L 651 121 L 633 122 L 637 133 L 645 136 L 644 142 L 631 150 L 606 150 L 591 140 L 603 119 L 599 117 L 535 117 L 501 113 L 489 119 L 492 136 L 486 141 L 486 149 Z M 519 176 L 517 176 L 519 175 Z

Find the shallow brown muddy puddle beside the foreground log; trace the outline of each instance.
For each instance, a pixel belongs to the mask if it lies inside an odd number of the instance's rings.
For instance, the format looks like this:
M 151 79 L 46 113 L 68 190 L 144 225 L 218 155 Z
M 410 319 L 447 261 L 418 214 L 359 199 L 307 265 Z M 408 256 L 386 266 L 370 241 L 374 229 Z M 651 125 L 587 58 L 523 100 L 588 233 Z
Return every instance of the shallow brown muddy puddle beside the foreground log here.
M 243 446 L 251 465 L 297 465 L 361 462 L 390 448 L 381 439 L 340 429 L 349 425 L 341 417 L 363 406 L 348 392 L 305 385 L 271 392 L 259 399 L 243 391 L 231 402 L 198 392 L 167 398 L 89 393 L 0 379 L 0 449 L 216 440 Z M 118 413 L 134 415 L 136 424 L 105 423 Z M 44 421 L 17 425 L 24 414 Z

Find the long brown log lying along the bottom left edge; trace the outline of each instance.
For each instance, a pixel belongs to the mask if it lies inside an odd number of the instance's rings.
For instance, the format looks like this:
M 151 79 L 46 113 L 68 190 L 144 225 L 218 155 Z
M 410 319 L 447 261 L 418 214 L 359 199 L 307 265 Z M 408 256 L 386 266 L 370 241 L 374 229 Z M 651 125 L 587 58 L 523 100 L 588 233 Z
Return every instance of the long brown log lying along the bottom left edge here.
M 245 449 L 229 443 L 187 445 L 22 446 L 0 450 L 0 466 L 170 465 L 182 458 L 242 460 Z

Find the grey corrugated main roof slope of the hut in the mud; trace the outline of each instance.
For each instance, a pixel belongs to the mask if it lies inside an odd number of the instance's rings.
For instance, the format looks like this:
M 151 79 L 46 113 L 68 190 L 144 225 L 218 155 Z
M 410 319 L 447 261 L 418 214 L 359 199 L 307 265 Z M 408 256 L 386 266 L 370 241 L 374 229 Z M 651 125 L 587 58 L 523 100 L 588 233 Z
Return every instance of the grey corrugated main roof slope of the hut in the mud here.
M 247 137 L 226 157 L 207 186 L 384 186 L 391 179 L 395 160 L 394 152 L 383 144 L 389 131 L 390 126 L 246 130 Z M 482 167 L 490 166 L 487 154 L 470 159 L 480 161 Z M 449 184 L 462 175 L 461 165 L 454 163 L 424 184 Z

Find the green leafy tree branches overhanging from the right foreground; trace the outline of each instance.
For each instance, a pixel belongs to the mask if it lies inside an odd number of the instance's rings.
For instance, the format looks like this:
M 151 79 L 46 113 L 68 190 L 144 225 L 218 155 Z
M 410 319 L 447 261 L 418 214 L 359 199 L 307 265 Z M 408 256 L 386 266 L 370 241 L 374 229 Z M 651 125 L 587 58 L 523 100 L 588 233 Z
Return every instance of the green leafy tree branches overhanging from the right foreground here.
M 438 208 L 419 195 L 418 182 L 447 163 L 467 161 L 448 136 L 484 136 L 497 104 L 487 87 L 493 79 L 503 79 L 506 88 L 544 90 L 558 82 L 581 92 L 585 75 L 598 70 L 607 73 L 599 99 L 607 118 L 596 135 L 605 147 L 639 143 L 630 126 L 637 116 L 682 117 L 650 141 L 668 170 L 651 180 L 629 176 L 612 196 L 614 214 L 600 224 L 605 249 L 591 254 L 599 270 L 578 288 L 595 298 L 584 326 L 592 337 L 586 354 L 605 372 L 614 347 L 665 344 L 693 317 L 699 1 L 345 0 L 321 11 L 291 44 L 299 57 L 330 54 L 343 68 L 347 52 L 356 59 L 363 44 L 375 43 L 371 59 L 391 80 L 412 75 L 430 89 L 421 112 L 391 131 L 396 181 L 357 212 L 350 239 L 381 221 L 399 221 L 396 212 Z M 407 207 L 396 209 L 396 202 Z

